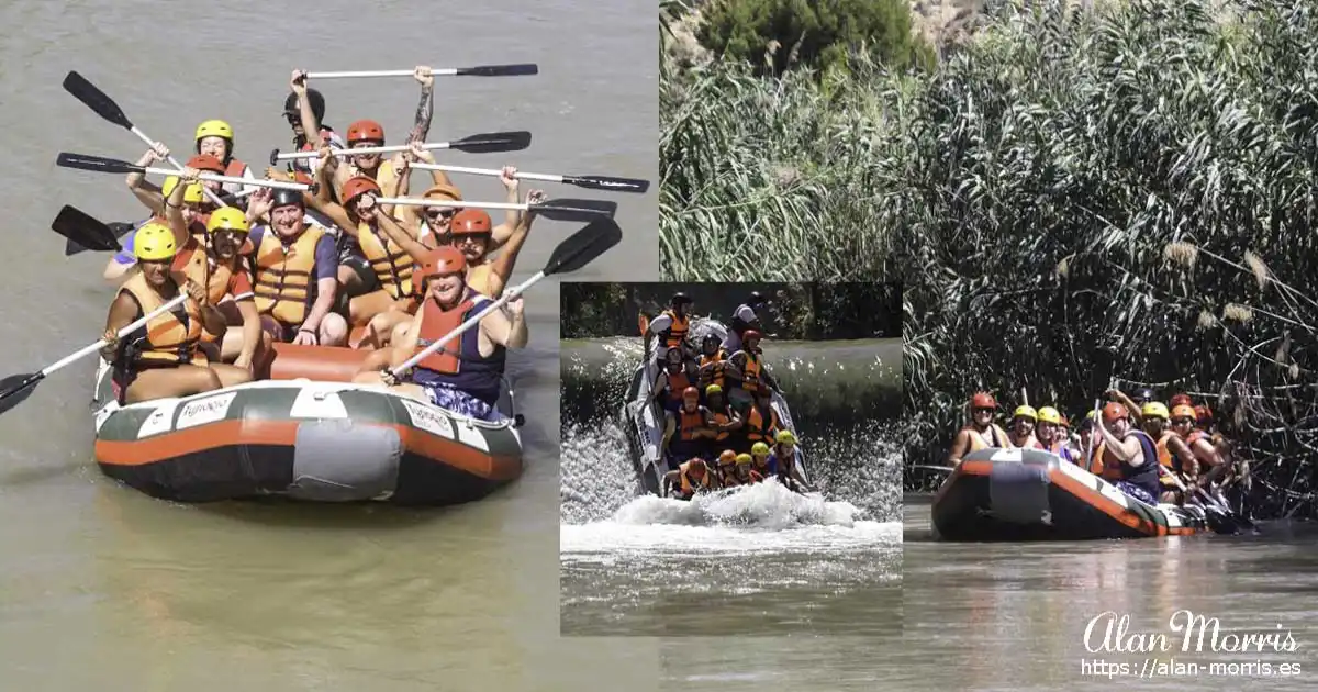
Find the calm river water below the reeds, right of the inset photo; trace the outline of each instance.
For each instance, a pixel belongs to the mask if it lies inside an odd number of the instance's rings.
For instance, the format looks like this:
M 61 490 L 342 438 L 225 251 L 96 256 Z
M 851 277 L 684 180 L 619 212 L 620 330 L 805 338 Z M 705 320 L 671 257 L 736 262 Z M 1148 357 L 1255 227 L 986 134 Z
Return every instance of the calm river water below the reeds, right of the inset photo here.
M 1318 526 L 1260 522 L 1257 534 L 1239 536 L 945 543 L 931 538 L 931 497 L 905 500 L 900 666 L 950 662 L 923 668 L 932 688 L 1107 689 L 1122 680 L 1137 689 L 1314 689 Z M 1182 651 L 1184 631 L 1172 622 L 1184 625 L 1186 616 L 1177 614 L 1184 610 L 1217 617 L 1222 633 L 1289 630 L 1300 649 L 1213 651 L 1207 637 L 1199 651 L 1195 635 Z M 1085 630 L 1104 612 L 1130 616 L 1128 635 L 1166 635 L 1168 650 L 1087 651 Z M 1099 620 L 1089 645 L 1101 647 L 1104 633 Z M 1151 667 L 1144 676 L 1145 659 L 1155 658 L 1186 666 L 1166 675 Z M 1094 672 L 1095 660 L 1124 663 L 1128 674 L 1108 680 Z M 1211 663 L 1234 667 L 1214 674 Z M 1300 674 L 1282 675 L 1284 664 Z

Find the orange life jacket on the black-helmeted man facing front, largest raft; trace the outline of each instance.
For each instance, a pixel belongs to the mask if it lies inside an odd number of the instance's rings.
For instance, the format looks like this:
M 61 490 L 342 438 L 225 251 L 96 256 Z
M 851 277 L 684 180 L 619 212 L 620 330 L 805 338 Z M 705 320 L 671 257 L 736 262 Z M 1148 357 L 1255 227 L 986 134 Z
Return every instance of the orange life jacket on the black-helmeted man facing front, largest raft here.
M 324 231 L 307 227 L 285 249 L 274 228 L 266 228 L 256 249 L 256 308 L 283 324 L 302 324 L 315 291 L 316 241 Z

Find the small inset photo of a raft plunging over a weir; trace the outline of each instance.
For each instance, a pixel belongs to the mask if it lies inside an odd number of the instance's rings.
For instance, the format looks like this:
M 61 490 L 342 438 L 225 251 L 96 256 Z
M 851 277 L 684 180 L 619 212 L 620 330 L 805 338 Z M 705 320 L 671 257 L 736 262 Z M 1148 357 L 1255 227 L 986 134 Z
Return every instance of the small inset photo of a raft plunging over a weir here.
M 900 631 L 900 285 L 560 295 L 564 635 Z

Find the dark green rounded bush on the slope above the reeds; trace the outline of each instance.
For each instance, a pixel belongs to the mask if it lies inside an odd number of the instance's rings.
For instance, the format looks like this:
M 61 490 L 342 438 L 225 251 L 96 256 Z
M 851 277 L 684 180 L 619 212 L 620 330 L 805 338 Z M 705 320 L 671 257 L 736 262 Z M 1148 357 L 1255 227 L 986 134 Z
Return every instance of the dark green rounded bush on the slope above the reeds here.
M 845 69 L 853 53 L 896 69 L 929 65 L 932 55 L 911 33 L 905 0 L 714 0 L 702 11 L 697 38 L 774 76 L 796 65 Z

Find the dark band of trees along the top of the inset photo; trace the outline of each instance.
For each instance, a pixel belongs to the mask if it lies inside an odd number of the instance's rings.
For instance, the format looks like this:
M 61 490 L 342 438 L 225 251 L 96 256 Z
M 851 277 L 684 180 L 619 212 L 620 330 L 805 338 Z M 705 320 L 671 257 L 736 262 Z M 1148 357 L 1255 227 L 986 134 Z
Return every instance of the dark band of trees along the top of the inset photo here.
M 902 287 L 896 283 L 564 283 L 563 339 L 639 336 L 638 316 L 652 318 L 683 291 L 695 315 L 725 324 L 750 291 L 770 304 L 760 316 L 780 340 L 896 339 L 902 335 Z

